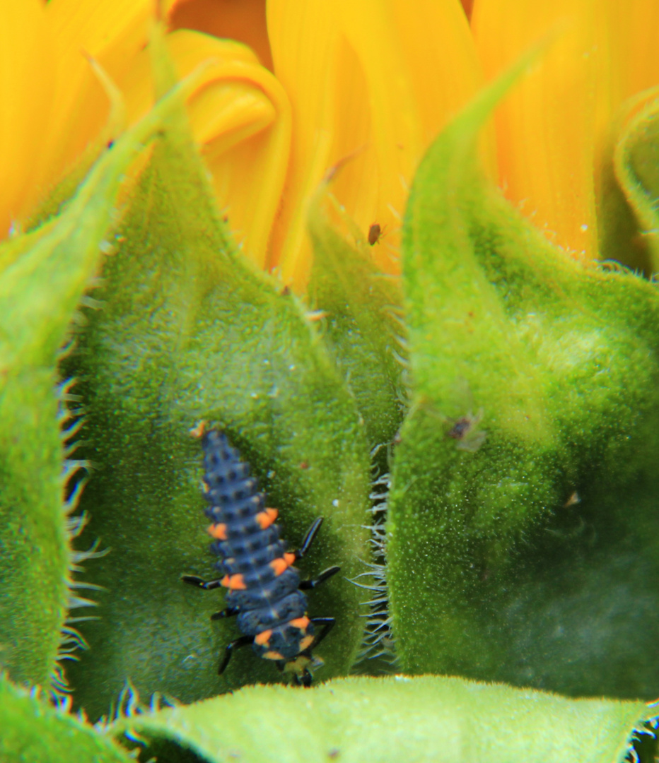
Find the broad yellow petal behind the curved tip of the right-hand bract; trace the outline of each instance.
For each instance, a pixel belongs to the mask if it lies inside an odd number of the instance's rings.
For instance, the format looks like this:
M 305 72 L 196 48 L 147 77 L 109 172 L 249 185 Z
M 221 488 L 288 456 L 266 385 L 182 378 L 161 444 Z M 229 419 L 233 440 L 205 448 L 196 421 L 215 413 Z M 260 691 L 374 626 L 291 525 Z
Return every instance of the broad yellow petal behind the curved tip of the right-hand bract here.
M 596 256 L 596 25 L 599 0 L 476 0 L 473 31 L 487 76 L 532 43 L 557 40 L 496 115 L 499 182 L 573 256 Z

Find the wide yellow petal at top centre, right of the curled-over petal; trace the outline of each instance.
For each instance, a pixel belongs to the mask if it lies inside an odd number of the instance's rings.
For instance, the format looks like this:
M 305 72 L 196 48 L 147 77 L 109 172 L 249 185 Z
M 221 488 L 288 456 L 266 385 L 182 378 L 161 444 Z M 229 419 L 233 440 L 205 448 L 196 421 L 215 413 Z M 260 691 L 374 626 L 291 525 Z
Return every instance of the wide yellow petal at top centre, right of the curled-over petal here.
M 277 78 L 291 98 L 292 158 L 271 264 L 302 290 L 311 265 L 309 198 L 346 156 L 333 191 L 366 235 L 386 227 L 373 256 L 398 272 L 399 229 L 415 168 L 432 138 L 480 84 L 457 0 L 293 0 L 268 3 Z

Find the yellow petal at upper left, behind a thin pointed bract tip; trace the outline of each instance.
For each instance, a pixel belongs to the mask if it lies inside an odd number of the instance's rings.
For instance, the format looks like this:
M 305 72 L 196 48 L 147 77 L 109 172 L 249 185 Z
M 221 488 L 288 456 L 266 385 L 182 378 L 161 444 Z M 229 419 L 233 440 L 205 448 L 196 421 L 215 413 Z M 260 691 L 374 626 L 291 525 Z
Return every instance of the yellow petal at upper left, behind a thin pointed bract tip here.
M 57 111 L 47 142 L 51 182 L 99 134 L 108 98 L 84 53 L 120 79 L 147 40 L 152 0 L 50 0 L 47 20 L 56 44 Z

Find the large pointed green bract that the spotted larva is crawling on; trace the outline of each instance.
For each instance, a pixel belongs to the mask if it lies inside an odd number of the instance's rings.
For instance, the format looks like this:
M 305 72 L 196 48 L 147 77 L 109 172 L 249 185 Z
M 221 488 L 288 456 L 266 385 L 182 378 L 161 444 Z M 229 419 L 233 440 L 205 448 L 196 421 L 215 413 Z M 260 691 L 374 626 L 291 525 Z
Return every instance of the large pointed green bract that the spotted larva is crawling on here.
M 101 620 L 82 633 L 89 653 L 70 676 L 82 707 L 105 713 L 124 681 L 144 696 L 195 700 L 248 681 L 280 681 L 274 665 L 238 652 L 238 635 L 211 623 L 218 591 L 181 575 L 217 577 L 200 491 L 202 452 L 189 430 L 224 427 L 252 464 L 283 536 L 299 543 L 325 517 L 302 563 L 341 575 L 309 595 L 312 616 L 337 618 L 319 676 L 344 674 L 359 649 L 360 594 L 345 578 L 367 555 L 368 446 L 353 399 L 292 295 L 254 272 L 218 219 L 207 171 L 182 120 L 134 193 L 121 246 L 106 262 L 104 306 L 79 336 L 71 371 L 88 408 L 85 455 L 95 473 L 82 499 L 90 536 L 111 548 L 89 563 L 102 585 Z

